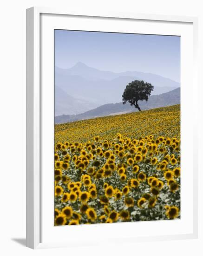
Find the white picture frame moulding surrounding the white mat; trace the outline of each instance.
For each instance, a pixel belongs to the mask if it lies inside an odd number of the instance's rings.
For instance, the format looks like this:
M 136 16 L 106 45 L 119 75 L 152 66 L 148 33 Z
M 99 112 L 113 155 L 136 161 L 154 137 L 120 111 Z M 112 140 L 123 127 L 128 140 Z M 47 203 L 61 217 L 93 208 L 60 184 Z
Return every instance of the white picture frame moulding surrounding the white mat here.
M 65 242 L 43 243 L 40 223 L 40 13 L 73 16 L 94 16 L 123 19 L 164 20 L 191 22 L 194 28 L 194 85 L 197 88 L 197 18 L 133 14 L 133 13 L 71 13 L 65 10 L 32 7 L 26 10 L 26 246 L 32 249 L 66 247 Z M 198 89 L 198 88 L 197 88 Z M 197 104 L 193 100 L 193 104 Z M 197 116 L 194 113 L 194 215 L 193 233 L 155 237 L 138 237 L 137 242 L 193 239 L 198 236 L 198 186 L 197 186 Z M 128 238 L 132 242 L 131 238 Z M 133 239 L 134 241 L 134 239 Z M 117 243 L 118 240 L 115 240 Z M 120 242 L 120 241 L 119 241 Z M 126 242 L 124 240 L 124 242 Z M 73 246 L 76 246 L 73 244 Z M 81 244 L 84 245 L 84 244 Z

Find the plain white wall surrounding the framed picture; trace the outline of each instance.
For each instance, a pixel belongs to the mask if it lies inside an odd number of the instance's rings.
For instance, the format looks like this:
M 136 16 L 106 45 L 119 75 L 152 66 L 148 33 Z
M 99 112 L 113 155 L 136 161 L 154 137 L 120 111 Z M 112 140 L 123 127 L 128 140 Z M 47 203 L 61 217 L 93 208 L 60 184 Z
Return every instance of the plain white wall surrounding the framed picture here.
M 198 240 L 120 244 L 115 247 L 31 250 L 26 236 L 26 8 L 118 11 L 199 17 L 199 81 L 203 70 L 202 0 L 5 0 L 0 5 L 0 253 L 1 255 L 203 255 L 203 200 L 200 198 Z M 199 116 L 203 115 L 199 82 Z M 200 109 L 201 108 L 201 109 Z M 202 117 L 199 145 L 203 145 Z M 199 181 L 203 179 L 199 147 Z M 203 189 L 200 184 L 200 193 Z M 190 202 L 189 202 L 190 203 Z M 202 243 L 201 243 L 202 242 Z

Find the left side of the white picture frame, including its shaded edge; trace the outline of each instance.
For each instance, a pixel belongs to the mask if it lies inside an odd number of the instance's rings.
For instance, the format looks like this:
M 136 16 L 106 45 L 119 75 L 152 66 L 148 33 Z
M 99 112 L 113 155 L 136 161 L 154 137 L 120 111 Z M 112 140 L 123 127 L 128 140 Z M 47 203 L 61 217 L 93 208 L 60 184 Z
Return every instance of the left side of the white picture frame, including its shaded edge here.
M 39 13 L 26 10 L 26 246 L 40 243 Z

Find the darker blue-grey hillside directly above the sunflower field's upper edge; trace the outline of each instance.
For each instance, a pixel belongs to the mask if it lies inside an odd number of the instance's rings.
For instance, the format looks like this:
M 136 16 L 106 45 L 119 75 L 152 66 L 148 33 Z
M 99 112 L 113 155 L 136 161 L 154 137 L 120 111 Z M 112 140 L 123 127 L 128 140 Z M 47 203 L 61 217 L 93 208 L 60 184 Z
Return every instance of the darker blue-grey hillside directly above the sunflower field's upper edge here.
M 142 110 L 180 104 L 180 88 L 164 94 L 152 95 L 149 97 L 148 101 L 138 101 L 138 103 Z M 118 115 L 135 111 L 138 110 L 128 103 L 125 105 L 123 105 L 122 102 L 115 104 L 111 103 L 102 105 L 98 108 L 94 108 L 79 115 L 56 116 L 55 123 L 72 122 L 84 119 L 91 119 L 99 116 Z

